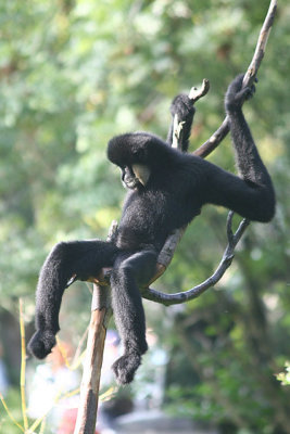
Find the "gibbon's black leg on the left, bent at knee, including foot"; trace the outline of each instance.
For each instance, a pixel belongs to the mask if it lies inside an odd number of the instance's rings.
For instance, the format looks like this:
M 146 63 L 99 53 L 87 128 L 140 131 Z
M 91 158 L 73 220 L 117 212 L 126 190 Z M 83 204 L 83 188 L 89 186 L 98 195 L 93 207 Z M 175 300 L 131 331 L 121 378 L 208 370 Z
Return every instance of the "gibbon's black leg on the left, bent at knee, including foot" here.
M 87 280 L 98 276 L 102 267 L 114 264 L 117 247 L 100 240 L 72 241 L 56 244 L 47 257 L 36 291 L 36 332 L 28 350 L 42 359 L 55 345 L 60 330 L 59 312 L 68 280 Z

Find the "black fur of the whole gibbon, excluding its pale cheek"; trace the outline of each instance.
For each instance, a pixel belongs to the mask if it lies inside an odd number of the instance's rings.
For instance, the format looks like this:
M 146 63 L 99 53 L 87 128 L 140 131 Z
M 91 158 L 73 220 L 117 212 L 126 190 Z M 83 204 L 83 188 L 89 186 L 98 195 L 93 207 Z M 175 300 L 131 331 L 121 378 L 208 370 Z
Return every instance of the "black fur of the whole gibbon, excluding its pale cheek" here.
M 29 350 L 46 357 L 55 344 L 59 310 L 67 281 L 98 276 L 102 267 L 113 267 L 112 303 L 124 355 L 113 365 L 117 381 L 129 383 L 147 350 L 146 319 L 139 285 L 155 271 L 156 258 L 173 229 L 189 224 L 204 204 L 223 205 L 256 221 L 269 221 L 275 213 L 275 193 L 269 175 L 259 155 L 241 106 L 254 88 L 241 90 L 238 76 L 226 93 L 232 143 L 240 177 L 194 155 L 172 149 L 160 138 L 126 133 L 109 142 L 108 157 L 123 170 L 123 180 L 133 190 L 127 194 L 116 239 L 58 244 L 48 256 L 36 295 L 36 333 Z M 188 148 L 194 107 L 178 95 L 172 115 L 184 124 L 182 149 Z M 171 126 L 168 142 L 173 127 Z M 146 165 L 146 186 L 134 175 L 134 165 Z M 133 183 L 130 183 L 133 182 Z

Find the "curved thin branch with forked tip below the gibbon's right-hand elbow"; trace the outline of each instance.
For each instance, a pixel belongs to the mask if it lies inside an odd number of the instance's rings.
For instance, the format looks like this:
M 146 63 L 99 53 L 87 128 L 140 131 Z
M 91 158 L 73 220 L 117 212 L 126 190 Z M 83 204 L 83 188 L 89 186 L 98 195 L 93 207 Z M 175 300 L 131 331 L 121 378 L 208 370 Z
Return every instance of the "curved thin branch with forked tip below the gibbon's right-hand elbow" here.
M 231 224 L 232 224 L 232 216 L 234 213 L 230 212 L 227 219 L 227 237 L 228 237 L 228 244 L 223 255 L 223 258 L 215 270 L 215 272 L 206 279 L 204 282 L 200 283 L 199 285 L 192 288 L 191 290 L 185 292 L 178 292 L 175 294 L 165 294 L 160 291 L 153 290 L 151 288 L 142 289 L 142 297 L 150 299 L 151 302 L 160 303 L 165 306 L 176 305 L 185 302 L 189 302 L 190 299 L 199 297 L 201 294 L 204 293 L 209 288 L 214 286 L 224 276 L 228 267 L 230 266 L 234 259 L 234 252 L 235 247 L 238 244 L 239 240 L 243 235 L 245 229 L 250 225 L 250 221 L 243 219 L 237 231 L 232 233 Z

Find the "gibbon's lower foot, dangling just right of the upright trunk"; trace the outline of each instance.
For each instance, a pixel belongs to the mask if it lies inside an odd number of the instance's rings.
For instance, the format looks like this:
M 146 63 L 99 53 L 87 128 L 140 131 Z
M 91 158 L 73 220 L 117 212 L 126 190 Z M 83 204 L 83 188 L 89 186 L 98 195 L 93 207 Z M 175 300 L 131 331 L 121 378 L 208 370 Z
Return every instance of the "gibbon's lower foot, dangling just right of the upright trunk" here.
M 141 365 L 141 356 L 138 353 L 129 353 L 119 357 L 112 369 L 118 384 L 128 384 L 133 381 L 136 370 Z

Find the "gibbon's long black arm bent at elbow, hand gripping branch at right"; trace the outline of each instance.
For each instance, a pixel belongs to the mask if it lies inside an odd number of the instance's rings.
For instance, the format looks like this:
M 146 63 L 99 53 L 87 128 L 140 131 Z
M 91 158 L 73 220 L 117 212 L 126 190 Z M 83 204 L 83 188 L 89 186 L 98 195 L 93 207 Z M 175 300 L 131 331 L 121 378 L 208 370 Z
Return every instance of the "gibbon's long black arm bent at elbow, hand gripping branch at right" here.
M 275 192 L 241 108 L 242 103 L 252 97 L 254 87 L 241 89 L 242 79 L 243 75 L 236 77 L 225 99 L 241 178 L 214 166 L 207 177 L 204 197 L 250 220 L 267 222 L 275 214 Z

